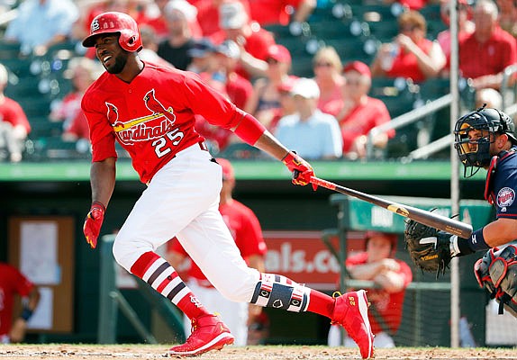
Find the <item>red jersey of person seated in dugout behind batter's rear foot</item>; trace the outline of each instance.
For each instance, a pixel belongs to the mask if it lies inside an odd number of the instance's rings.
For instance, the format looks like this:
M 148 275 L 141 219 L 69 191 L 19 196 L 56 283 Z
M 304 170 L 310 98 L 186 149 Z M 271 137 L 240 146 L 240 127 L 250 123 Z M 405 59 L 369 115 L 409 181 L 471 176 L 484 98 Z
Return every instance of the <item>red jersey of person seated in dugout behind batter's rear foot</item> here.
M 347 258 L 347 266 L 357 266 L 367 264 L 367 252 L 361 252 Z M 404 277 L 404 290 L 398 293 L 388 293 L 383 289 L 368 289 L 368 301 L 372 302 L 376 307 L 376 311 L 385 321 L 385 324 L 392 331 L 396 331 L 400 327 L 402 321 L 402 308 L 404 305 L 405 287 L 413 281 L 413 273 L 411 268 L 404 261 L 395 261 L 400 266 L 399 274 Z M 378 334 L 383 331 L 378 324 L 372 311 L 368 311 L 368 319 L 372 327 L 372 332 Z

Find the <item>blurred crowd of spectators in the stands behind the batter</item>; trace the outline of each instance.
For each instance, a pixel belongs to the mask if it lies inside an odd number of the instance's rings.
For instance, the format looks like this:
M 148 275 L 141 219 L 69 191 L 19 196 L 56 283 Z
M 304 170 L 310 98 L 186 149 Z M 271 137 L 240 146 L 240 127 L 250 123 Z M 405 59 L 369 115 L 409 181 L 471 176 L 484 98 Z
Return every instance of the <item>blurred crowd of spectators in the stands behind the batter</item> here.
M 325 145 L 325 150 L 304 157 L 358 159 L 366 157 L 368 131 L 391 121 L 385 103 L 368 95 L 373 80 L 403 77 L 418 84 L 449 76 L 449 29 L 431 37 L 426 18 L 419 12 L 427 4 L 440 4 L 441 19 L 449 27 L 449 0 L 399 3 L 404 11 L 398 16 L 398 34 L 380 44 L 370 64 L 348 57 L 351 61 L 343 67 L 337 49 L 323 46 L 313 54 L 312 79 L 293 73 L 297 59 L 265 27 L 288 26 L 291 34 L 300 34 L 302 23 L 311 22 L 319 4 L 315 0 L 26 0 L 6 25 L 4 39 L 20 44 L 20 57 L 44 56 L 59 42 L 82 40 L 96 14 L 131 14 L 141 25 L 144 60 L 199 74 L 284 141 L 296 138 L 289 146 L 300 153 L 312 148 L 308 144 L 317 148 L 315 144 L 321 141 Z M 499 91 L 503 70 L 517 63 L 516 24 L 517 6 L 512 0 L 458 1 L 460 75 L 472 79 L 469 84 L 479 92 L 478 97 Z M 99 68 L 95 53 L 83 50 L 68 65 L 72 92 L 52 107 L 49 117 L 50 121 L 63 121 L 62 136 L 67 141 L 88 139 L 78 104 Z M 302 91 L 300 86 L 304 86 Z M 5 103 L 3 99 L 0 112 Z M 314 121 L 328 127 L 329 138 L 316 139 L 316 130 L 301 130 Z M 239 141 L 231 131 L 215 130 L 202 118 L 196 128 L 217 152 Z M 19 131 L 18 142 L 29 131 L 27 122 L 25 130 Z M 394 130 L 378 134 L 374 146 L 385 148 L 394 136 Z M 5 157 L 21 160 L 19 150 Z

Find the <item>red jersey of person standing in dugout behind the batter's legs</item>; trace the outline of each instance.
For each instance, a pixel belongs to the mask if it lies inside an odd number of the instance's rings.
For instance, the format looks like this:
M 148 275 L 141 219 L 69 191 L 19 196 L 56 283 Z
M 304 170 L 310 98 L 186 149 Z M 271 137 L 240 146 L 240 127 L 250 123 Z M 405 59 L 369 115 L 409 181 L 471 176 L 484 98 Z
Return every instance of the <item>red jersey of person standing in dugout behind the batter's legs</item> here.
M 240 255 L 246 260 L 252 255 L 266 255 L 268 247 L 262 237 L 259 220 L 257 216 L 241 202 L 232 200 L 219 207 L 222 219 L 230 229 L 231 236 L 240 249 Z M 177 239 L 168 242 L 168 251 L 174 251 L 187 256 L 185 249 Z M 201 284 L 209 284 L 201 269 L 191 263 L 187 272 L 188 277 L 195 278 Z

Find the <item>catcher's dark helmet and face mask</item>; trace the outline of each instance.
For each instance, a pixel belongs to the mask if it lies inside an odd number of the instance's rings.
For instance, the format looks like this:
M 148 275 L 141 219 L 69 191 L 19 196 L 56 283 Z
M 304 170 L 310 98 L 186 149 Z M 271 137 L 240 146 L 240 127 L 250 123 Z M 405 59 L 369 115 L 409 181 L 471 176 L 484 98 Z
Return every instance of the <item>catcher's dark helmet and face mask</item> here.
M 481 137 L 469 139 L 468 133 L 472 130 L 481 130 Z M 454 148 L 458 151 L 459 160 L 465 166 L 464 177 L 471 177 L 481 167 L 490 165 L 492 158 L 490 144 L 494 142 L 495 134 L 506 134 L 512 144 L 517 144 L 512 119 L 504 112 L 485 108 L 485 104 L 456 122 Z

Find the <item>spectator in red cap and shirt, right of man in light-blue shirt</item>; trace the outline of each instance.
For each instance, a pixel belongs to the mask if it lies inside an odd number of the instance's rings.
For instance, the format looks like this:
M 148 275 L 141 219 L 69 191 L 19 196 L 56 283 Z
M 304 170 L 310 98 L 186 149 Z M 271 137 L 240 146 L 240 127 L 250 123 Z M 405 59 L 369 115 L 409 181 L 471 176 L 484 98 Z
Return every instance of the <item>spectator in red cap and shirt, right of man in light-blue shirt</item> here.
M 345 83 L 341 99 L 331 104 L 339 109 L 336 118 L 340 123 L 343 139 L 343 155 L 349 159 L 367 155 L 367 134 L 376 126 L 391 121 L 390 114 L 381 100 L 368 96 L 372 84 L 370 69 L 360 61 L 351 61 L 344 68 Z M 385 148 L 395 130 L 376 134 L 375 148 Z

